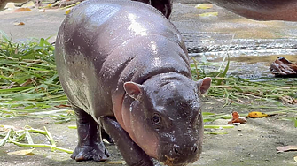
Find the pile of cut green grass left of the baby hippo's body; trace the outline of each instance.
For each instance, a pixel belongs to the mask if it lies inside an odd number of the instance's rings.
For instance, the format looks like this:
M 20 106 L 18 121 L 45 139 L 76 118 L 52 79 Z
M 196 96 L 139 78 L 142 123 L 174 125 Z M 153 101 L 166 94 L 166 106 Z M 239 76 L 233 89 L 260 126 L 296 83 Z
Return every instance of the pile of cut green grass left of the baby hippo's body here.
M 0 119 L 65 104 L 48 39 L 16 43 L 0 34 Z

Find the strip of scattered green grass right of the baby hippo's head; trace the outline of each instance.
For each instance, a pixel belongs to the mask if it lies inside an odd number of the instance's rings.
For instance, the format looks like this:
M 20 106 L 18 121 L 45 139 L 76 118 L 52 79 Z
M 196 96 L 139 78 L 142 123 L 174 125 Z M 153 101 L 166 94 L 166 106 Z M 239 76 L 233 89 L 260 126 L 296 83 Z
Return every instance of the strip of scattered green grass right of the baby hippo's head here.
M 229 59 L 223 72 L 208 72 L 203 69 L 205 66 L 217 66 L 215 63 L 201 62 L 194 60 L 191 64 L 191 72 L 194 79 L 204 77 L 212 78 L 212 86 L 208 90 L 208 96 L 226 98 L 226 103 L 231 101 L 240 101 L 246 97 L 254 97 L 257 100 L 274 102 L 277 105 L 283 105 L 281 99 L 289 97 L 297 98 L 296 78 L 261 78 L 259 79 L 240 79 L 228 76 Z

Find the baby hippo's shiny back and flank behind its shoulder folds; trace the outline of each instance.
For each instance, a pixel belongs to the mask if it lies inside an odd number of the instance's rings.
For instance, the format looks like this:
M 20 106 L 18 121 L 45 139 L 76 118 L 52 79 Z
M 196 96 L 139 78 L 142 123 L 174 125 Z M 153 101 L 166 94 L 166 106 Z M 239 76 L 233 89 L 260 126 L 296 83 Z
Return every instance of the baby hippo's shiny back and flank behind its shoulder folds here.
M 55 50 L 59 79 L 69 101 L 98 114 L 93 117 L 103 115 L 96 109 L 106 109 L 104 115 L 112 116 L 111 89 L 118 83 L 121 66 L 135 56 L 125 52 L 147 47 L 125 44 L 138 38 L 153 39 L 147 36 L 161 36 L 186 51 L 176 27 L 148 4 L 88 0 L 76 6 L 59 28 Z M 124 49 L 111 59 L 118 48 Z

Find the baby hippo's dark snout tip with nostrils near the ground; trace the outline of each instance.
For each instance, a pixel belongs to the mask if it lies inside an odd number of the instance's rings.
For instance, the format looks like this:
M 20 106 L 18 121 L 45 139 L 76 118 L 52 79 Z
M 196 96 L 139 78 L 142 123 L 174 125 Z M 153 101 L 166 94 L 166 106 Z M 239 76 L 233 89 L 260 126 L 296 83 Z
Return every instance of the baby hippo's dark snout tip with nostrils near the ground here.
M 160 161 L 167 165 L 184 165 L 198 160 L 201 146 L 198 141 L 185 143 L 183 145 L 173 144 L 164 146 Z

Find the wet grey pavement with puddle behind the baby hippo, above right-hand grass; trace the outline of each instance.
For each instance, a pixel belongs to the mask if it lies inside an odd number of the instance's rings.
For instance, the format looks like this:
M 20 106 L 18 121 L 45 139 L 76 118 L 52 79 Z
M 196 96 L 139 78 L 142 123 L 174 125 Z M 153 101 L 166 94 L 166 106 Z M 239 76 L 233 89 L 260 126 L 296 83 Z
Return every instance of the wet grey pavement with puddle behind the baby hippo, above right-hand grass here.
M 277 57 L 297 62 L 297 22 L 255 21 L 245 19 L 215 6 L 197 10 L 195 5 L 175 4 L 171 20 L 184 37 L 189 55 L 207 62 L 231 57 L 229 75 L 257 79 L 274 77 L 270 64 Z M 216 17 L 199 17 L 200 13 L 218 12 Z M 217 66 L 206 70 L 217 71 Z

